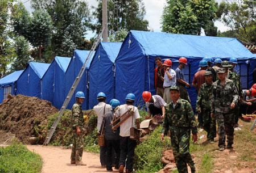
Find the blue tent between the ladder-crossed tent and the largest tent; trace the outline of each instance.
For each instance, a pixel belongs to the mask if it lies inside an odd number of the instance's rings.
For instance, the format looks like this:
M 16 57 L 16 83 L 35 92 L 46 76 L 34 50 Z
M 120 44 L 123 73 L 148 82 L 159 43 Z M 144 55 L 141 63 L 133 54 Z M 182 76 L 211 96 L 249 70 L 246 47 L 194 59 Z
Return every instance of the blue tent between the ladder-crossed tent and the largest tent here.
M 98 92 L 106 94 L 107 103 L 114 98 L 114 62 L 121 45 L 115 42 L 98 45 L 89 69 L 89 109 L 98 104 Z

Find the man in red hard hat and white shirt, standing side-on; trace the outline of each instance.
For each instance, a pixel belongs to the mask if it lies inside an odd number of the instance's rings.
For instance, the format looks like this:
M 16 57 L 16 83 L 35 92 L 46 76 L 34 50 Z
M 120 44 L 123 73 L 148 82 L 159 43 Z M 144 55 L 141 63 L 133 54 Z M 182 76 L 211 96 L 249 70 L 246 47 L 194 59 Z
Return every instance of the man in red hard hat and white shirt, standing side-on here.
M 172 69 L 172 61 L 167 59 L 164 61 L 164 69 L 166 70 L 166 73 L 164 73 L 164 82 L 163 82 L 163 87 L 164 87 L 164 102 L 167 104 L 171 102 L 171 97 L 170 97 L 170 91 L 169 88 L 171 86 L 176 86 L 176 73 L 174 69 Z

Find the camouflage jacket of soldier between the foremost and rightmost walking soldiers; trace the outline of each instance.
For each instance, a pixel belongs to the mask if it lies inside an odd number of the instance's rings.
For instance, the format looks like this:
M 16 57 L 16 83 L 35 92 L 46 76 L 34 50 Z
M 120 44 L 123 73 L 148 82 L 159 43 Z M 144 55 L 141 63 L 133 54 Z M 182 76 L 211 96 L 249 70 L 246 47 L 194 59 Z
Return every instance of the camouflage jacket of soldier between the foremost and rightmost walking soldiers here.
M 212 96 L 212 83 L 205 82 L 200 87 L 196 100 L 196 112 L 210 109 L 210 97 Z

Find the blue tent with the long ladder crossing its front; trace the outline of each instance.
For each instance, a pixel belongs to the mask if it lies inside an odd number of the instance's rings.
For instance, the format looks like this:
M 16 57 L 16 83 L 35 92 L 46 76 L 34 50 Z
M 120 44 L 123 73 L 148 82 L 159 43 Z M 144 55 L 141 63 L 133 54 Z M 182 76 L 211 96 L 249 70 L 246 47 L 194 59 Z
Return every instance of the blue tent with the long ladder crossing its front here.
M 86 58 L 88 57 L 89 50 L 75 50 L 73 57 L 71 61 L 69 62 L 68 69 L 66 71 L 65 75 L 65 96 L 68 95 L 69 90 L 71 89 L 71 86 L 73 85 L 77 75 L 79 75 L 79 71 L 82 68 L 82 65 L 84 64 Z M 75 93 L 73 94 L 67 109 L 72 109 L 73 104 L 76 102 L 75 94 L 77 91 L 82 91 L 85 94 L 84 102 L 82 103 L 82 109 L 88 109 L 89 104 L 89 85 L 88 85 L 88 70 L 90 67 L 90 62 L 92 61 L 92 58 L 94 56 L 94 53 L 92 53 L 92 56 L 90 57 L 90 60 L 86 66 L 86 69 L 84 71 L 84 74 L 82 74 L 82 78 L 79 82 L 79 85 L 76 88 Z

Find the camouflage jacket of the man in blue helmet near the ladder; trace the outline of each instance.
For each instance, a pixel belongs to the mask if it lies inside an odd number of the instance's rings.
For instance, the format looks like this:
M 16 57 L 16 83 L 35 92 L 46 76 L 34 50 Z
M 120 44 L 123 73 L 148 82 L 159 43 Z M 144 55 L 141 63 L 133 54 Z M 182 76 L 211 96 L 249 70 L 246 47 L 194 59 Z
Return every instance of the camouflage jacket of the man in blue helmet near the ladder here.
M 80 130 L 84 130 L 84 115 L 82 113 L 82 106 L 79 103 L 75 103 L 72 107 L 71 114 L 71 126 L 75 130 L 76 126 L 79 125 Z

